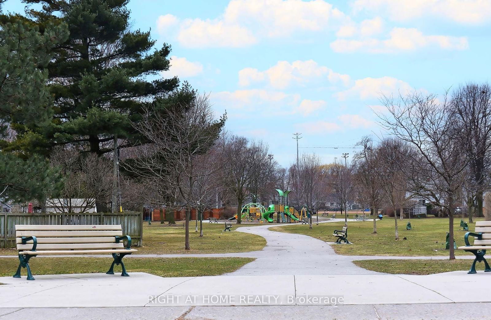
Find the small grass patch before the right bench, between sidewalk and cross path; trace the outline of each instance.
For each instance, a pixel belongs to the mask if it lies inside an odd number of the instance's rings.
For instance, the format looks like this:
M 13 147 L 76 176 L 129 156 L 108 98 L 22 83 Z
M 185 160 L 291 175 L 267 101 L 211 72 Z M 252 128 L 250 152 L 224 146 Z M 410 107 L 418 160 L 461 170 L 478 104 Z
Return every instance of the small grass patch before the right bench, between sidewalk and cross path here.
M 470 269 L 472 260 L 358 260 L 362 268 L 392 274 L 434 274 Z M 476 263 L 476 270 L 484 270 L 484 263 Z M 464 271 L 462 271 L 464 272 Z

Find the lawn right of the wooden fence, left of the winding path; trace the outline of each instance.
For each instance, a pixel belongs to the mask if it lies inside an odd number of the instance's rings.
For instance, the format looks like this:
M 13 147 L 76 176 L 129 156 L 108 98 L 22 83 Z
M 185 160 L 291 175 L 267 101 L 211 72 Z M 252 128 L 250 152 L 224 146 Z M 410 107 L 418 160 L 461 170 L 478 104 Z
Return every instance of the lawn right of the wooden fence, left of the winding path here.
M 223 232 L 223 224 L 203 221 L 203 236 L 194 232 L 194 221 L 190 222 L 191 250 L 184 250 L 184 228 L 179 221 L 177 226 L 161 225 L 159 222 L 151 226 L 143 225 L 143 247 L 136 248 L 136 254 L 202 254 L 202 253 L 233 253 L 261 250 L 266 246 L 262 236 L 236 232 L 240 227 L 262 226 L 263 224 L 232 225 L 232 231 Z M 198 225 L 199 228 L 199 225 Z M 199 229 L 198 229 L 199 230 Z M 0 249 L 0 255 L 17 255 L 16 249 Z

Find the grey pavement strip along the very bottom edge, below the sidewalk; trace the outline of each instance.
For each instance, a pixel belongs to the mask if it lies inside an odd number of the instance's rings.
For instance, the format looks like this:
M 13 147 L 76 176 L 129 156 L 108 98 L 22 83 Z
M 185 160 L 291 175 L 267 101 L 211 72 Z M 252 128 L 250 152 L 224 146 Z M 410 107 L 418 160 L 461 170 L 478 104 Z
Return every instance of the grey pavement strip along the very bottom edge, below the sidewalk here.
M 489 320 L 491 303 L 0 309 L 0 320 Z

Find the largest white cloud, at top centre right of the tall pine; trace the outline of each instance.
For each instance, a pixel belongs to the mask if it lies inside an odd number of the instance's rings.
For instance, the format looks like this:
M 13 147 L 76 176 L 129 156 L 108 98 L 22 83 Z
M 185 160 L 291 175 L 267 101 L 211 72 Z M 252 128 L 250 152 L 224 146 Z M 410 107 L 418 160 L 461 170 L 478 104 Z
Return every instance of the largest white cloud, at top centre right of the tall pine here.
M 158 30 L 179 24 L 177 40 L 190 48 L 246 47 L 265 37 L 337 29 L 348 18 L 324 0 L 231 0 L 216 19 L 160 16 Z

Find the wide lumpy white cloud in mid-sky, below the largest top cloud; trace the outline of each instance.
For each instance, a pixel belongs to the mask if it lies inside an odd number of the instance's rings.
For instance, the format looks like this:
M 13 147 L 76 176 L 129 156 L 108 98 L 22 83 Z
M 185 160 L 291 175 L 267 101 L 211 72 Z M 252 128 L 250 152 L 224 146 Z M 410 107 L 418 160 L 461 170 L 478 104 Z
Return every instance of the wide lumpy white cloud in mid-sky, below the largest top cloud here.
M 268 81 L 272 87 L 286 88 L 290 85 L 306 85 L 313 81 L 327 81 L 331 84 L 347 85 L 350 76 L 332 71 L 326 66 L 319 65 L 314 60 L 278 61 L 265 71 L 245 68 L 239 71 L 239 84 L 249 86 L 252 83 Z

